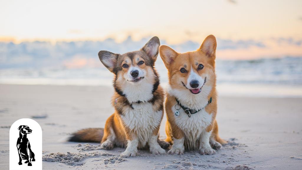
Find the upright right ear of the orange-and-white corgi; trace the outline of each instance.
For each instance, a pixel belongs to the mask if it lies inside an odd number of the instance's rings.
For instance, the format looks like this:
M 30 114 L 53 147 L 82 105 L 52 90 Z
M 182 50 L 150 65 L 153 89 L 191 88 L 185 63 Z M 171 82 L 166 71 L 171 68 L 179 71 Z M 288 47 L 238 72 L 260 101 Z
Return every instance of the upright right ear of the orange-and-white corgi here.
M 204 39 L 204 42 L 201 44 L 199 50 L 204 52 L 204 54 L 206 54 L 208 57 L 213 57 L 215 60 L 216 47 L 216 38 L 214 35 L 209 35 L 206 39 Z

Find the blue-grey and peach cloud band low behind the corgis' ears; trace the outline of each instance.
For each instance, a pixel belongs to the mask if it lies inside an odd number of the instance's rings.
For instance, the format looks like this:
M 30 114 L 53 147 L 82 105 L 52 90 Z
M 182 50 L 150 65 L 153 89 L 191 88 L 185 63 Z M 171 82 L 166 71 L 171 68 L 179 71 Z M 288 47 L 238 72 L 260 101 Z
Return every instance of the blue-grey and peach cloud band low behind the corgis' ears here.
M 101 67 L 98 59 L 100 50 L 123 54 L 142 48 L 148 38 L 133 41 L 129 36 L 125 41 L 117 43 L 114 39 L 104 41 L 72 41 L 72 42 L 0 42 L 0 69 L 21 67 Z M 186 41 L 180 44 L 167 44 L 175 51 L 184 53 L 195 51 L 201 44 Z M 302 39 L 271 38 L 267 40 L 238 40 L 217 38 L 217 58 L 245 59 L 263 56 L 302 56 Z

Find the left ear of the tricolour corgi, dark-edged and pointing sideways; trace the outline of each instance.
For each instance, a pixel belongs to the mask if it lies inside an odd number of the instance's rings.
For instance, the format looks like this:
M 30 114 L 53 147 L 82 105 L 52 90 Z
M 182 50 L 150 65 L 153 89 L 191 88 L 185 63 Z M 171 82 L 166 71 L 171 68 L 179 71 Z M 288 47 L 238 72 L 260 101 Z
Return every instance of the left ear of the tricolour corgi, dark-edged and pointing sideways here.
M 100 51 L 100 52 L 98 52 L 98 57 L 100 58 L 101 62 L 111 72 L 112 72 L 112 70 L 113 70 L 113 68 L 116 64 L 118 56 L 119 56 L 119 54 L 114 54 L 114 53 L 111 53 L 109 51 Z

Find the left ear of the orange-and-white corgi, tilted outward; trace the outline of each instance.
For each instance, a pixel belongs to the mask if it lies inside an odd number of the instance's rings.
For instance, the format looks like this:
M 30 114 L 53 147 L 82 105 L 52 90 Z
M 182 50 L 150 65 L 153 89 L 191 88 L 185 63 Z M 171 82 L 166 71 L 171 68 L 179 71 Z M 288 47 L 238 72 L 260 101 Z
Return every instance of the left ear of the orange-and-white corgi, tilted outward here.
M 159 55 L 162 58 L 162 61 L 165 63 L 166 68 L 169 70 L 169 66 L 174 62 L 178 53 L 172 48 L 162 45 L 159 47 Z

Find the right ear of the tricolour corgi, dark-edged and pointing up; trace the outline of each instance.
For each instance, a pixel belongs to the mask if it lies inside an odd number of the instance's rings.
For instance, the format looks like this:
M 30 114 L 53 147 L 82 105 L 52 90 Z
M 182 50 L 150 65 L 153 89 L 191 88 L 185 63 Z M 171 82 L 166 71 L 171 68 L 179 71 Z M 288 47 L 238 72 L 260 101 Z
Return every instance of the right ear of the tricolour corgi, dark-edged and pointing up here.
M 159 38 L 153 37 L 142 48 L 142 50 L 145 51 L 147 55 L 151 58 L 153 65 L 158 56 L 159 46 L 160 46 Z

